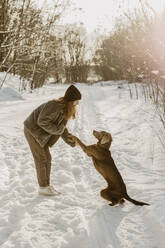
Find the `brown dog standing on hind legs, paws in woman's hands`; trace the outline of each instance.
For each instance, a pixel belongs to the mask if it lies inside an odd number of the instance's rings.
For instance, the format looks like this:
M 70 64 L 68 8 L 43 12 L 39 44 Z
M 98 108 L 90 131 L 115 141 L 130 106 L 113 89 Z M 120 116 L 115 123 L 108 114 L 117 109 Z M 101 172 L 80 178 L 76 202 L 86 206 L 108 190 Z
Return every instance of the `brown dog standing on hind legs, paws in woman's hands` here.
M 105 131 L 93 131 L 93 135 L 98 139 L 97 144 L 86 146 L 76 136 L 73 136 L 75 142 L 82 148 L 82 150 L 92 157 L 96 170 L 105 178 L 108 183 L 106 189 L 101 190 L 101 196 L 111 201 L 111 206 L 117 203 L 124 203 L 124 199 L 134 203 L 135 205 L 143 206 L 149 205 L 145 202 L 133 200 L 127 194 L 126 185 L 118 171 L 111 152 L 109 150 L 112 142 L 111 134 Z

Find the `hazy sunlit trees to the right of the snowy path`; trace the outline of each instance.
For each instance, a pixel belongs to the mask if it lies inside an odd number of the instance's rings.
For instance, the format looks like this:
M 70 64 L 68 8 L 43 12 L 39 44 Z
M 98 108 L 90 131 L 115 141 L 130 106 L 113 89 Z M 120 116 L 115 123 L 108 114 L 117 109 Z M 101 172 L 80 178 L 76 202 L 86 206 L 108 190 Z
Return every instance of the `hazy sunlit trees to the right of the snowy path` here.
M 94 63 L 103 80 L 135 82 L 165 68 L 165 12 L 158 16 L 147 1 L 139 2 L 138 9 L 118 18 L 96 50 Z

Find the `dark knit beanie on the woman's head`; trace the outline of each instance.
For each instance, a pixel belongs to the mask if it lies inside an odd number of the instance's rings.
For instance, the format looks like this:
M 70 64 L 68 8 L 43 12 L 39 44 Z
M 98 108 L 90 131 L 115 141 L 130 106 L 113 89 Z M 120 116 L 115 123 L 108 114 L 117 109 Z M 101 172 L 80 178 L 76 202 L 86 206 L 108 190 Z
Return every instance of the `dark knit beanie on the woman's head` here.
M 81 93 L 74 85 L 71 85 L 66 90 L 65 95 L 64 95 L 64 99 L 67 102 L 80 100 L 81 99 Z

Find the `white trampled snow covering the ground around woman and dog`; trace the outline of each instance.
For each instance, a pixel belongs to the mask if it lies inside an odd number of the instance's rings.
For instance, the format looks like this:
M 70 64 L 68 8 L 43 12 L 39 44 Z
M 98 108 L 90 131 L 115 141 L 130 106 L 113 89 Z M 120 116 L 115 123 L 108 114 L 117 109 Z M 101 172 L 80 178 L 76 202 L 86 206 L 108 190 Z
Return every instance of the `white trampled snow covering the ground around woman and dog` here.
M 96 142 L 93 129 L 111 132 L 111 153 L 129 195 L 151 206 L 126 201 L 110 207 L 99 195 L 106 183 L 91 159 L 62 139 L 51 148 L 51 182 L 62 194 L 43 197 L 37 194 L 23 121 L 41 103 L 62 96 L 68 85 L 26 94 L 12 87 L 15 81 L 10 77 L 10 86 L 0 91 L 0 247 L 164 248 L 165 153 L 154 107 L 130 99 L 124 82 L 77 84 L 83 98 L 77 119 L 68 124 L 86 144 Z

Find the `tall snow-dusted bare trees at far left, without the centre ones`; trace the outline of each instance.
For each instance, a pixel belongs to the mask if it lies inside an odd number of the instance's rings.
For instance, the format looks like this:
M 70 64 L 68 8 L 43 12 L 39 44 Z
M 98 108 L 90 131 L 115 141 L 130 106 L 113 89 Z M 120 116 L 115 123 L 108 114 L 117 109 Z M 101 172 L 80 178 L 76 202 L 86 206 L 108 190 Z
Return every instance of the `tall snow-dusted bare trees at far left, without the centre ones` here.
M 2 29 L 3 40 L 0 44 L 4 58 L 1 59 L 0 70 L 5 68 L 7 73 L 30 80 L 31 89 L 41 87 L 52 62 L 50 49 L 57 41 L 55 38 L 52 41 L 51 37 L 56 37 L 54 29 L 68 6 L 68 0 L 54 1 L 52 11 L 38 9 L 31 0 L 3 1 L 7 3 L 9 18 Z M 7 34 L 5 38 L 4 34 Z M 3 83 L 4 80 L 0 87 Z

